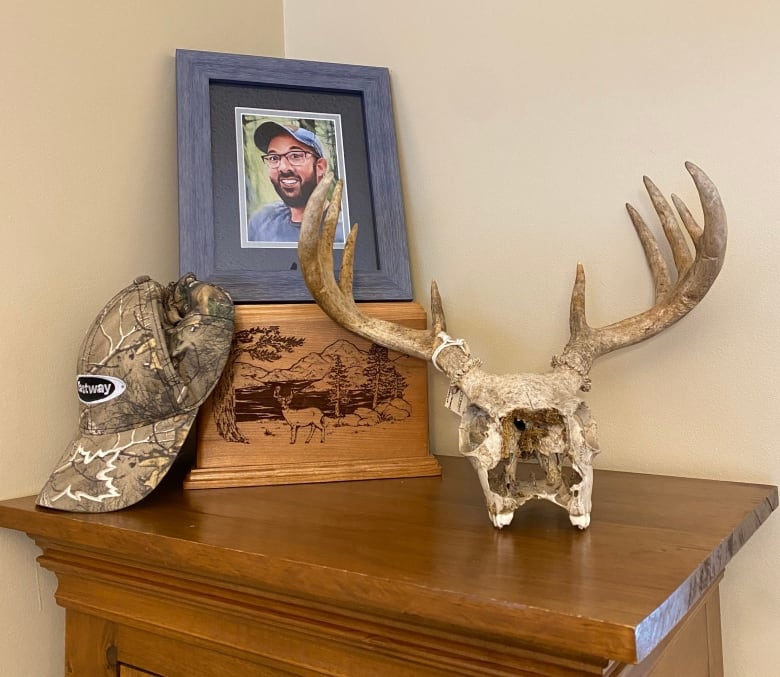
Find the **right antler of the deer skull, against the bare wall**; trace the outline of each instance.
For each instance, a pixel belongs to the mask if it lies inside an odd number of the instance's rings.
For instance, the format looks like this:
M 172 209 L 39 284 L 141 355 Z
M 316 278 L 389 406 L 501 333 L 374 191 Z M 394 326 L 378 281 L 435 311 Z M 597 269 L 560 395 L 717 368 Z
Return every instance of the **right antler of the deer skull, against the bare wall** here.
M 562 356 L 554 358 L 554 364 L 573 367 L 584 377 L 596 358 L 662 332 L 689 313 L 709 291 L 726 253 L 726 213 L 718 190 L 709 177 L 692 162 L 686 162 L 685 167 L 699 193 L 704 227 L 696 223 L 685 203 L 676 195 L 672 195 L 672 201 L 693 242 L 695 257 L 691 256 L 685 235 L 669 203 L 653 182 L 645 177 L 645 187 L 672 250 L 677 269 L 676 281 L 672 282 L 650 229 L 636 209 L 627 204 L 626 208 L 653 275 L 655 305 L 614 324 L 601 328 L 590 327 L 585 318 L 585 273 L 579 264 L 571 298 L 571 339 Z

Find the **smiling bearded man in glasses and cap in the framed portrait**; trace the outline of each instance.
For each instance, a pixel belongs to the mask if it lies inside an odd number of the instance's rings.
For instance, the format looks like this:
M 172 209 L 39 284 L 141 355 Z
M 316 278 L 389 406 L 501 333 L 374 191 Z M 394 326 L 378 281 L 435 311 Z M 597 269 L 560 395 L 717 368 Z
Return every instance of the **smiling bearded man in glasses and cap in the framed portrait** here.
M 303 127 L 264 122 L 255 131 L 268 178 L 281 201 L 264 206 L 249 219 L 248 238 L 254 242 L 298 242 L 303 210 L 328 170 L 328 159 L 317 135 Z M 336 241 L 344 241 L 339 224 Z

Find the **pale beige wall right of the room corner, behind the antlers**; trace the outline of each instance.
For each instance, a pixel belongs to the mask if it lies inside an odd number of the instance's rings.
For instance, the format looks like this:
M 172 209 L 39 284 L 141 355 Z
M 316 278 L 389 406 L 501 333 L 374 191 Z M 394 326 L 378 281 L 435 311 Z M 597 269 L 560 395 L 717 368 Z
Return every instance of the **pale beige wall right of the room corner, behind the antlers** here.
M 435 278 L 450 333 L 495 371 L 563 347 L 578 260 L 594 323 L 644 309 L 623 204 L 652 214 L 648 174 L 698 212 L 683 163 L 704 168 L 725 268 L 681 324 L 596 364 L 597 465 L 778 484 L 779 25 L 768 0 L 288 1 L 285 50 L 390 68 L 415 294 Z M 452 453 L 432 378 L 433 444 Z M 773 516 L 723 584 L 731 677 L 777 674 L 778 562 Z

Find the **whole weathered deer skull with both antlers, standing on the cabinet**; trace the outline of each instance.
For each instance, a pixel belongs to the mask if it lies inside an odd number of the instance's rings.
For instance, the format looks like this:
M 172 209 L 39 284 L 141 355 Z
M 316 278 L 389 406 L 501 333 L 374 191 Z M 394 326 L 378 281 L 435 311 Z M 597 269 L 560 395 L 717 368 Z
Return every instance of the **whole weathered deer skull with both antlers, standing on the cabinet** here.
M 333 235 L 341 204 L 337 183 L 322 214 L 332 178 L 320 182 L 303 217 L 298 243 L 301 271 L 314 299 L 339 325 L 393 350 L 431 360 L 450 380 L 450 408 L 461 416 L 459 450 L 474 466 L 495 527 L 512 521 L 515 510 L 535 498 L 552 501 L 569 513 L 575 526 L 590 523 L 593 457 L 598 453 L 596 424 L 580 391 L 590 389 L 588 374 L 598 357 L 655 336 L 696 306 L 718 276 L 726 250 L 726 216 L 715 185 L 692 163 L 704 214 L 699 226 L 685 204 L 672 201 L 693 243 L 686 237 L 669 203 L 648 178 L 645 187 L 661 222 L 676 268 L 673 279 L 658 243 L 639 213 L 626 205 L 645 251 L 655 283 L 652 308 L 605 327 L 588 325 L 585 274 L 581 265 L 572 292 L 571 338 L 546 374 L 485 372 L 463 340 L 446 332 L 438 288 L 431 285 L 432 326 L 410 329 L 365 315 L 352 297 L 353 254 L 357 226 L 347 238 L 338 283 L 333 275 Z M 534 461 L 539 476 L 520 472 L 518 464 Z M 524 466 L 525 467 L 525 466 Z

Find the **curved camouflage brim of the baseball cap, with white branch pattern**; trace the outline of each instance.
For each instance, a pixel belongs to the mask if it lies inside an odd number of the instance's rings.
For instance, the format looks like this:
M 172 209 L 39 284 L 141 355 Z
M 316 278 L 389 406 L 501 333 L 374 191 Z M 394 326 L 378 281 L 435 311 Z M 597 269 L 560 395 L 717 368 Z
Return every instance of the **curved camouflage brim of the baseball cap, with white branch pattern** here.
M 45 508 L 111 512 L 145 498 L 184 444 L 197 410 L 118 433 L 80 433 L 36 499 Z

